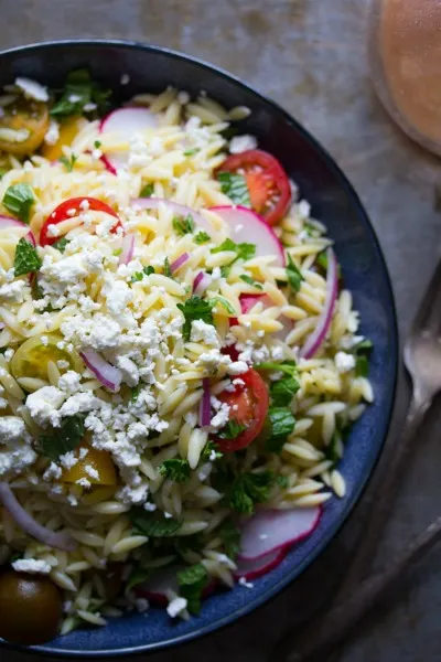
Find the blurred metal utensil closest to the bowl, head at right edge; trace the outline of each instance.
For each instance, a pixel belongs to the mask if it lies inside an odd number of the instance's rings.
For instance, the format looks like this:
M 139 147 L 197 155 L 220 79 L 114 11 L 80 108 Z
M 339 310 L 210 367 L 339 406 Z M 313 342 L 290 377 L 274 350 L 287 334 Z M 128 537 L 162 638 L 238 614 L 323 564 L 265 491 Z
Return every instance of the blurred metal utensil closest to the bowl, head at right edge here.
M 375 503 L 370 506 L 368 513 L 363 513 L 363 515 L 361 512 L 357 513 L 358 516 L 366 520 L 363 527 L 363 544 L 358 545 L 351 567 L 335 596 L 333 604 L 336 607 L 326 615 L 313 619 L 309 626 L 302 627 L 301 632 L 293 632 L 290 629 L 276 647 L 276 654 L 272 659 L 278 660 L 278 662 L 282 660 L 287 660 L 287 662 L 312 662 L 316 658 L 315 653 L 319 649 L 321 650 L 321 662 L 324 662 L 321 632 L 327 632 L 327 623 L 330 619 L 334 618 L 334 611 L 338 610 L 340 615 L 343 611 L 347 616 L 347 621 L 352 622 L 354 599 L 345 600 L 345 598 L 358 586 L 369 566 L 397 493 L 399 481 L 404 476 L 409 451 L 415 446 L 413 441 L 417 440 L 417 433 L 433 402 L 433 397 L 441 391 L 441 261 L 437 266 L 411 325 L 405 345 L 404 359 L 413 383 L 412 398 L 404 428 L 394 445 L 392 452 L 389 453 L 390 458 L 381 467 L 376 479 Z M 367 600 L 365 605 L 357 600 L 358 616 L 356 620 L 363 617 L 370 605 L 372 600 Z M 348 628 L 344 628 L 340 639 L 333 638 L 332 642 L 327 642 L 327 654 L 332 652 L 331 643 L 336 645 L 337 640 L 341 643 L 347 631 Z

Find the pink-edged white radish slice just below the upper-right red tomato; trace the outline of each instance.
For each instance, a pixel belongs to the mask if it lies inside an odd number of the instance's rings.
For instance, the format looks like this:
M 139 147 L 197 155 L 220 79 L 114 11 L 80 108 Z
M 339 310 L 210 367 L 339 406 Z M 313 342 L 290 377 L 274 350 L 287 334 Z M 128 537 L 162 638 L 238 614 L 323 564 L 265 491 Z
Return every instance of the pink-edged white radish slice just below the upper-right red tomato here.
M 228 224 L 230 237 L 237 244 L 241 242 L 256 244 L 256 256 L 273 255 L 275 265 L 284 267 L 283 246 L 265 220 L 243 206 L 215 206 L 211 207 Z

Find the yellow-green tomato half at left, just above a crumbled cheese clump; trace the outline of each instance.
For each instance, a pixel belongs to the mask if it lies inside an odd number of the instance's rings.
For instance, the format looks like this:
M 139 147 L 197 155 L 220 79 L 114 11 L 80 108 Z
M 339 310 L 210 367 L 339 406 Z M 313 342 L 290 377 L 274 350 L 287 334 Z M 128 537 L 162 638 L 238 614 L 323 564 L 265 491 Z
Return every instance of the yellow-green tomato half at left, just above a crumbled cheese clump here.
M 44 341 L 44 342 L 43 342 Z M 74 370 L 78 373 L 84 371 L 84 363 L 77 352 L 68 352 L 65 346 L 61 350 L 57 343 L 63 338 L 55 333 L 43 335 L 33 335 L 19 346 L 11 361 L 11 372 L 15 380 L 20 377 L 34 377 L 47 380 L 47 363 L 53 361 L 63 374 L 67 370 Z M 64 343 L 65 345 L 66 343 Z M 66 362 L 67 365 L 61 367 L 57 361 Z M 61 364 L 62 366 L 64 363 Z

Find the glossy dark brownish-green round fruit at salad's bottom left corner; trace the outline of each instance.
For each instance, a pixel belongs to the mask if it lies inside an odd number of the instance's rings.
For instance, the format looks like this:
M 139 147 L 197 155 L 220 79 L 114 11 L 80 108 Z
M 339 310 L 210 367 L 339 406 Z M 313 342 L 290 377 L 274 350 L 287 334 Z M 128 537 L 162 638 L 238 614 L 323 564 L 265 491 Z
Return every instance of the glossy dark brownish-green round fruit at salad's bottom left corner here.
M 49 577 L 14 570 L 0 576 L 0 637 L 43 643 L 57 636 L 61 618 L 61 592 Z

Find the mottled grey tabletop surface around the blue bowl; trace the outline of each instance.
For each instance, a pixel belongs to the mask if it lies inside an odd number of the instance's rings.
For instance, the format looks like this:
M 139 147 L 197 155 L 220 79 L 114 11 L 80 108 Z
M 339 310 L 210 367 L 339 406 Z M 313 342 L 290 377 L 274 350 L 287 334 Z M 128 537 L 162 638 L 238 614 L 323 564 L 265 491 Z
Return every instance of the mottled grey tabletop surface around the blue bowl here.
M 330 150 L 361 194 L 392 276 L 401 334 L 406 331 L 440 254 L 433 206 L 440 162 L 389 122 L 372 92 L 365 56 L 368 0 L 2 0 L 0 6 L 0 47 L 69 36 L 136 39 L 211 61 L 284 106 Z M 394 429 L 407 397 L 401 375 Z M 379 564 L 439 515 L 440 419 L 438 405 L 404 479 Z M 357 526 L 355 513 L 291 588 L 236 626 L 183 648 L 181 662 L 263 662 L 278 636 L 329 597 Z M 341 662 L 441 660 L 440 560 L 441 551 L 433 551 L 399 597 L 359 629 Z M 153 659 L 175 656 L 165 652 Z M 1 659 L 28 658 L 3 651 Z

